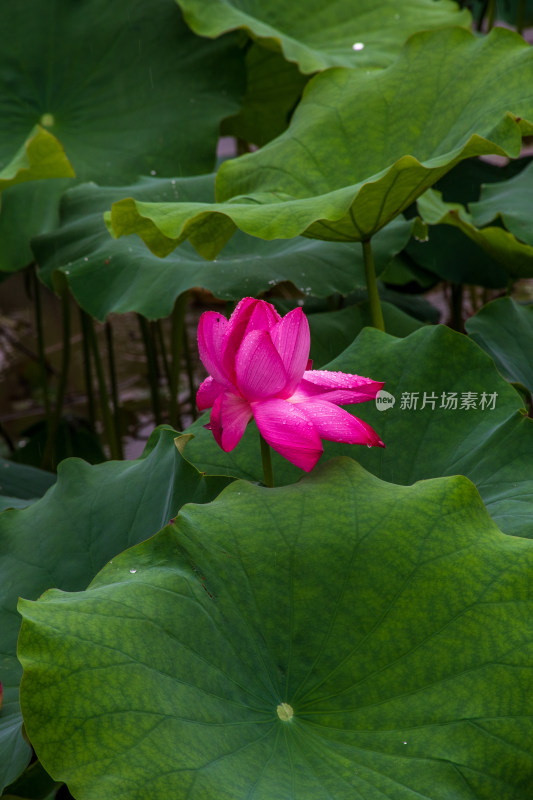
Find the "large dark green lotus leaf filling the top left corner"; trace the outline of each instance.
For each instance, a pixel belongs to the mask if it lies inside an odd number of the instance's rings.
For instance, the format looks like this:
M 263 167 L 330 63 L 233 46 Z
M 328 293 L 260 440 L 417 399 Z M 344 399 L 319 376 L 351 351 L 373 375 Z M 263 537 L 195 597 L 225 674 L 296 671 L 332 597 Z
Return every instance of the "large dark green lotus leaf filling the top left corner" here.
M 0 53 L 0 169 L 37 123 L 61 141 L 79 180 L 112 185 L 139 173 L 213 169 L 220 121 L 238 110 L 244 88 L 233 37 L 193 35 L 173 0 L 2 3 L 0 30 L 9 32 Z M 2 198 L 19 226 L 18 247 L 0 227 L 12 251 L 3 269 L 24 266 L 29 239 L 50 229 L 54 183 L 48 202 L 36 204 L 33 187 Z M 24 200 L 34 206 L 26 217 Z

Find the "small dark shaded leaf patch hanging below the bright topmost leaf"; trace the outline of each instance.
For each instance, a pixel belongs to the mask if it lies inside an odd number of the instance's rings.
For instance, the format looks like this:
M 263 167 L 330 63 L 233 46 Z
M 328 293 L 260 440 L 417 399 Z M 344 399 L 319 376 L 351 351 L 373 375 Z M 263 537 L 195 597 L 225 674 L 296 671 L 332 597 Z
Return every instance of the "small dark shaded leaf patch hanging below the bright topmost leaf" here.
M 221 131 L 262 147 L 286 130 L 308 78 L 279 53 L 257 44 L 248 48 L 245 61 L 242 108 L 223 121 Z

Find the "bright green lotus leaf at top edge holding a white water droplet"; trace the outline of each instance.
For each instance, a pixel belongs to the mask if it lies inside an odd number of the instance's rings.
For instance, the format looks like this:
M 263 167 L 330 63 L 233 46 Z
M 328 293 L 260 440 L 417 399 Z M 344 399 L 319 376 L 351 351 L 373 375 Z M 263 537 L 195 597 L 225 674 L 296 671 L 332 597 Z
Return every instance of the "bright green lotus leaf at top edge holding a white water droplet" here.
M 177 0 L 201 36 L 244 29 L 283 53 L 301 72 L 328 67 L 386 67 L 416 31 L 470 25 L 468 11 L 449 0 Z

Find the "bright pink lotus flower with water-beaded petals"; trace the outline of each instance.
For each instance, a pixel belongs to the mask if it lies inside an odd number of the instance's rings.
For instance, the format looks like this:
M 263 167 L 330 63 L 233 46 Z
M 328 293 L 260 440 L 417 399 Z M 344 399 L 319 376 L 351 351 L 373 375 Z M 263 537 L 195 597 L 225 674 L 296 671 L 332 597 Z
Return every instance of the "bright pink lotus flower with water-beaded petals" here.
M 321 439 L 384 447 L 379 436 L 339 408 L 376 397 L 383 383 L 343 372 L 311 370 L 309 323 L 301 308 L 280 317 L 264 300 L 245 297 L 227 320 L 206 311 L 198 325 L 200 358 L 209 372 L 198 390 L 207 428 L 227 453 L 254 417 L 268 444 L 309 472 Z

